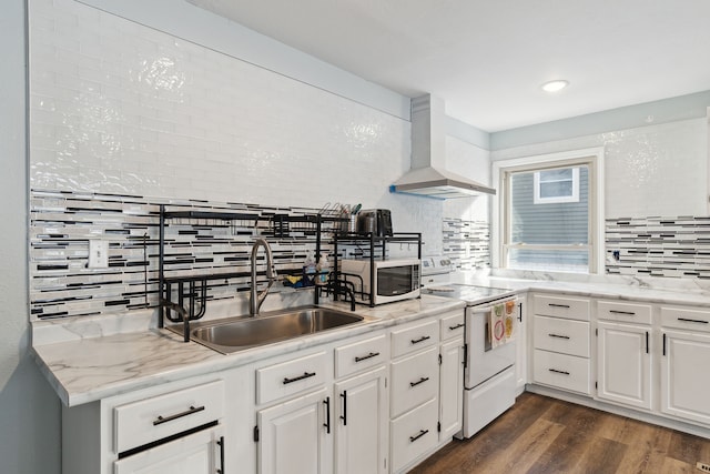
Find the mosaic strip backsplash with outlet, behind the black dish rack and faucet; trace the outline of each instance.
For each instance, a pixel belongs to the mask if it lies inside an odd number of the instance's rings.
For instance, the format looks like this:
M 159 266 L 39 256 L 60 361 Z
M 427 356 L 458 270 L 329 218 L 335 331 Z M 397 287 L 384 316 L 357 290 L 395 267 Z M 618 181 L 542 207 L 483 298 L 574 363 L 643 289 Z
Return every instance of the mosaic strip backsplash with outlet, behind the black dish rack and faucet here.
M 234 211 L 258 220 L 173 220 L 165 226 L 165 274 L 240 273 L 212 281 L 209 299 L 233 299 L 248 289 L 255 235 L 268 239 L 280 274 L 298 273 L 315 249 L 313 223 L 281 226 L 274 215 L 305 215 L 305 208 L 268 208 L 138 195 L 32 191 L 30 222 L 31 317 L 123 313 L 158 301 L 160 204 L 170 211 Z M 254 224 L 256 222 L 256 225 Z M 324 229 L 332 228 L 324 224 Z M 89 240 L 109 242 L 109 268 L 87 268 Z M 324 252 L 331 249 L 324 244 Z M 261 256 L 261 255 L 260 255 Z

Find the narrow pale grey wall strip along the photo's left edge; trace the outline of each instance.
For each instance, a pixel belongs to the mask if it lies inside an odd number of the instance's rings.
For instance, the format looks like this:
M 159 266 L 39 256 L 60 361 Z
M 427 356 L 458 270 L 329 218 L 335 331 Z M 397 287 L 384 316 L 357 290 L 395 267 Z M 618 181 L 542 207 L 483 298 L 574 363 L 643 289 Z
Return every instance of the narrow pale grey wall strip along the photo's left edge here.
M 60 403 L 29 354 L 24 1 L 0 16 L 0 472 L 61 471 Z

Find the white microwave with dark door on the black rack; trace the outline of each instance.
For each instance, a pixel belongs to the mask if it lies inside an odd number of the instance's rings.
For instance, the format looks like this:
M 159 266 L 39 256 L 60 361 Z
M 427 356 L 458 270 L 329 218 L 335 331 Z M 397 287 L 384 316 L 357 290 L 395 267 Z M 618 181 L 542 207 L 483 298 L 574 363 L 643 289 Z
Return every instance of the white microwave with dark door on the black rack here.
M 343 260 L 341 276 L 354 285 L 357 296 L 374 304 L 392 303 L 419 296 L 422 261 Z

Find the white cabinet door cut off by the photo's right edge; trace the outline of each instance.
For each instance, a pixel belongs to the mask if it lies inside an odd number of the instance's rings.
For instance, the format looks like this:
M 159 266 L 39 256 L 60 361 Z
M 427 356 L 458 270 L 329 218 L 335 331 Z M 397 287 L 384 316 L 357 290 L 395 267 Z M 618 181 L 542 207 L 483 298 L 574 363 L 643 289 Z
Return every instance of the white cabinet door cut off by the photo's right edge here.
M 661 411 L 710 424 L 710 335 L 663 331 Z

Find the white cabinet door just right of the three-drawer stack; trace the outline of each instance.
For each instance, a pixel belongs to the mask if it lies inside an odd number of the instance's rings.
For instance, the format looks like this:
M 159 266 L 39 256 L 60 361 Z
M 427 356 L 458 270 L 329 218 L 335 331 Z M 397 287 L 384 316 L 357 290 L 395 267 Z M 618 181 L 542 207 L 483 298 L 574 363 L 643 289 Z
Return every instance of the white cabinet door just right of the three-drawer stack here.
M 650 327 L 599 322 L 597 396 L 651 409 Z

